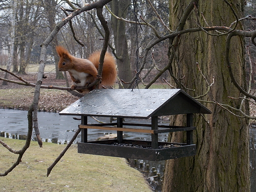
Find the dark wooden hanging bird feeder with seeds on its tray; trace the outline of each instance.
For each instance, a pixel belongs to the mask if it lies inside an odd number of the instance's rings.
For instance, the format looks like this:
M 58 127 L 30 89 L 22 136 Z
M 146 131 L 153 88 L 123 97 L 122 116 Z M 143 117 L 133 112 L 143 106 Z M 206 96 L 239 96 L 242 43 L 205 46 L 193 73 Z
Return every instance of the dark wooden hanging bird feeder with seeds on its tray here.
M 139 160 L 168 160 L 196 154 L 193 144 L 193 114 L 210 114 L 211 111 L 181 89 L 105 89 L 93 90 L 63 111 L 60 115 L 81 116 L 81 142 L 78 153 L 112 156 Z M 186 114 L 183 127 L 159 125 L 159 116 Z M 116 123 L 88 125 L 87 118 L 113 117 Z M 124 119 L 149 119 L 151 124 L 126 123 Z M 135 127 L 135 128 L 134 128 Z M 117 131 L 116 139 L 88 141 L 87 129 Z M 124 131 L 150 133 L 151 141 L 128 140 Z M 186 143 L 159 142 L 158 134 L 186 131 Z

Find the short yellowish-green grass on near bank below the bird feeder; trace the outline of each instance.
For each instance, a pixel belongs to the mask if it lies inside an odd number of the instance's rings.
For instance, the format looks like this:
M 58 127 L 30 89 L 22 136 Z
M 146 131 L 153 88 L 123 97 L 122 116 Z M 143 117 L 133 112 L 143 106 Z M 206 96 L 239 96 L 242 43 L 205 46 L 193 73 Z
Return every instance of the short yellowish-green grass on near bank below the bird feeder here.
M 25 141 L 0 137 L 16 150 Z M 78 154 L 72 145 L 46 177 L 47 167 L 65 145 L 32 142 L 22 162 L 0 178 L 0 192 L 151 192 L 141 173 L 125 159 Z M 0 146 L 0 172 L 16 161 L 17 155 Z

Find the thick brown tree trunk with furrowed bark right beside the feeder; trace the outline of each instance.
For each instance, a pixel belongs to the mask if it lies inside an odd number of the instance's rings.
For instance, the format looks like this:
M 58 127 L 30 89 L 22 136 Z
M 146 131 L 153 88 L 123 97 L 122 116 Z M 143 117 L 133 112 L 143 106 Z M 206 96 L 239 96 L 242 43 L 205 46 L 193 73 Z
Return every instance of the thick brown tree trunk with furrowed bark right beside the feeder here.
M 244 1 L 234 0 L 232 6 L 239 18 L 243 16 Z M 177 18 L 181 18 L 190 0 L 169 0 L 170 28 L 175 30 Z M 198 3 L 198 13 L 203 13 L 210 26 L 229 26 L 235 21 L 230 8 L 224 1 L 202 1 Z M 206 27 L 205 22 L 200 22 Z M 186 28 L 195 25 L 195 13 L 189 16 Z M 238 25 L 238 28 L 242 28 Z M 216 32 L 212 32 L 215 33 Z M 239 97 L 239 91 L 232 84 L 228 68 L 225 64 L 226 36 L 210 36 L 205 32 L 189 33 L 178 37 L 176 55 L 178 59 L 172 64 L 171 71 L 181 79 L 181 83 L 195 91 L 187 91 L 191 96 L 206 93 L 207 83 L 197 68 L 198 63 L 202 73 L 211 83 L 215 77 L 215 84 L 207 96 L 200 99 L 231 105 L 239 108 L 240 99 L 231 99 L 228 96 Z M 244 39 L 233 37 L 230 50 L 230 60 L 236 80 L 242 87 L 246 87 L 244 62 Z M 179 63 L 177 63 L 179 61 Z M 181 84 L 180 84 L 181 85 Z M 179 87 L 179 85 L 177 85 Z M 246 88 L 245 88 L 246 89 Z M 248 121 L 238 118 L 225 111 L 220 106 L 203 102 L 212 111 L 211 115 L 195 115 L 194 143 L 197 146 L 197 155 L 194 157 L 167 160 L 163 192 L 249 192 L 249 134 Z M 248 110 L 248 103 L 244 108 Z M 183 116 L 178 116 L 173 125 L 183 122 Z M 172 134 L 171 140 L 180 142 L 184 135 Z

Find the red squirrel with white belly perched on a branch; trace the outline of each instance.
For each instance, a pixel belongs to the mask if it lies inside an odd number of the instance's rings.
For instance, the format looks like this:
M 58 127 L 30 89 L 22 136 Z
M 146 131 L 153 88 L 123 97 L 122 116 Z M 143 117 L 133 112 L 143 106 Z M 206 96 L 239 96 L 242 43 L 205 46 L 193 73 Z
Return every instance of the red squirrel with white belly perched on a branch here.
M 100 52 L 95 52 L 87 59 L 76 58 L 69 54 L 69 52 L 62 46 L 57 46 L 56 51 L 60 56 L 58 64 L 59 71 L 68 71 L 74 85 L 71 90 L 76 87 L 88 86 L 98 78 L 98 64 Z M 101 75 L 100 88 L 111 87 L 114 85 L 117 77 L 115 58 L 108 52 L 105 54 L 103 62 L 103 71 Z M 86 90 L 77 90 L 80 93 L 87 94 L 95 89 L 95 86 Z

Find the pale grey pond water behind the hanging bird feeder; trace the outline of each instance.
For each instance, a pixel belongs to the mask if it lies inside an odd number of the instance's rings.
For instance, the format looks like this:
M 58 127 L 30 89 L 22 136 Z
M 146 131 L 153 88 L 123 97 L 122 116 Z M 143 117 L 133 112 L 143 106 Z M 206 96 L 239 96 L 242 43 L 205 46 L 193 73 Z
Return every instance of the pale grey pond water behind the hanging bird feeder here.
M 28 111 L 0 109 L 0 132 L 1 136 L 8 138 L 21 139 L 23 135 L 27 135 L 28 130 Z M 38 112 L 38 125 L 40 136 L 43 141 L 64 144 L 74 135 L 81 121 L 74 120 L 73 117 L 59 115 L 59 113 Z M 103 122 L 109 122 L 109 118 L 99 118 Z M 131 122 L 132 119 L 125 119 L 126 122 Z M 139 122 L 140 121 L 140 122 Z M 136 120 L 137 123 L 146 123 L 147 120 Z M 88 117 L 88 123 L 97 123 L 93 118 Z M 150 123 L 150 121 L 148 121 Z M 116 133 L 116 131 L 88 129 L 88 140 L 96 140 L 98 137 L 105 134 Z M 32 137 L 35 137 L 33 132 Z M 150 134 L 124 132 L 126 139 L 151 140 Z M 160 141 L 167 141 L 167 134 L 160 134 Z M 76 142 L 80 141 L 80 134 Z

